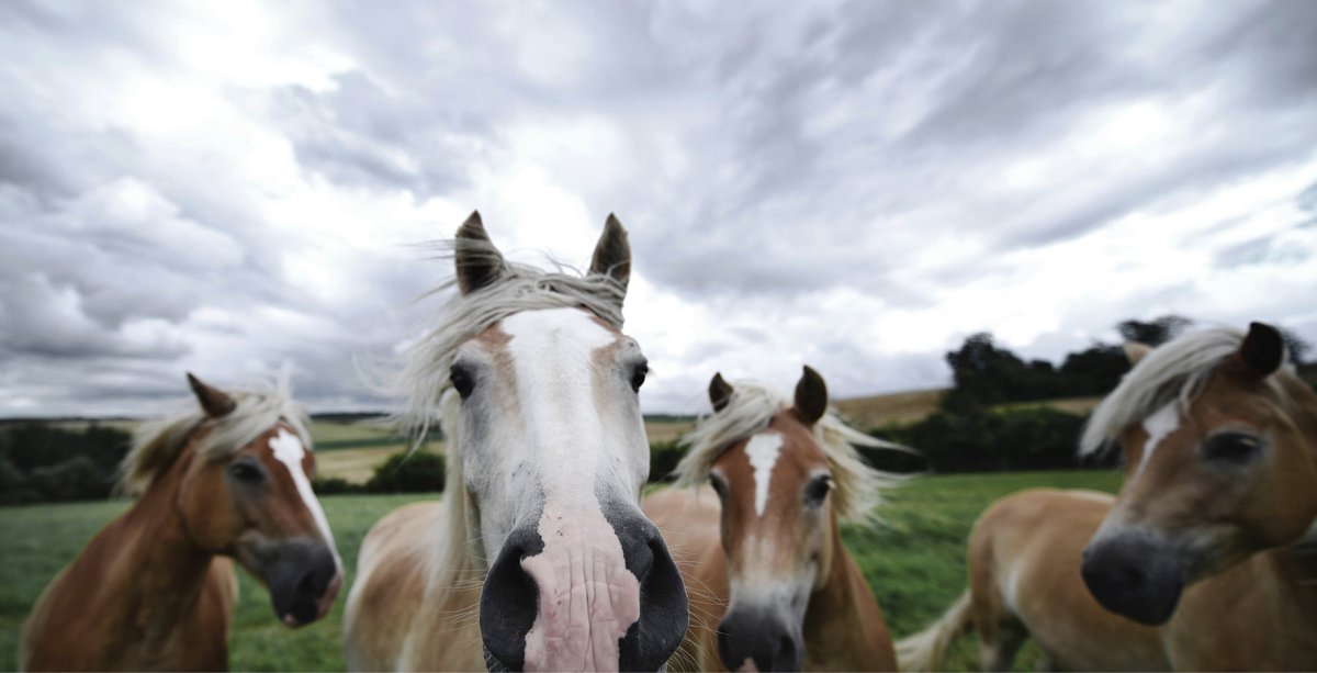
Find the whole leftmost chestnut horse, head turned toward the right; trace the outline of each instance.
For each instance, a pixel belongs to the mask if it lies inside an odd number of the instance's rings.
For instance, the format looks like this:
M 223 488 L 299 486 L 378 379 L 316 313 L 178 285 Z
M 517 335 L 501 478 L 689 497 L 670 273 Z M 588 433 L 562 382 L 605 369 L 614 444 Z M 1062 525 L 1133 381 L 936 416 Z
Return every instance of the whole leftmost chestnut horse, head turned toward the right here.
M 342 562 L 311 491 L 307 419 L 284 387 L 223 391 L 134 432 L 120 489 L 137 495 L 46 586 L 22 630 L 25 670 L 221 670 L 232 558 L 288 627 L 329 611 Z

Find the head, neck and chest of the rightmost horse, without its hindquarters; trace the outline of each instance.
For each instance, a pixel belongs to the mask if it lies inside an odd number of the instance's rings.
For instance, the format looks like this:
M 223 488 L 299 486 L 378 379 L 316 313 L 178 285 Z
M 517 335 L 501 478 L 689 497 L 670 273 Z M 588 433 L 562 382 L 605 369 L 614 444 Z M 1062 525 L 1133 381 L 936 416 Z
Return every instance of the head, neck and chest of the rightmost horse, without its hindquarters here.
M 1093 411 L 1126 478 L 1083 553 L 1102 607 L 1160 626 L 1171 665 L 1317 669 L 1317 392 L 1252 323 L 1151 352 Z

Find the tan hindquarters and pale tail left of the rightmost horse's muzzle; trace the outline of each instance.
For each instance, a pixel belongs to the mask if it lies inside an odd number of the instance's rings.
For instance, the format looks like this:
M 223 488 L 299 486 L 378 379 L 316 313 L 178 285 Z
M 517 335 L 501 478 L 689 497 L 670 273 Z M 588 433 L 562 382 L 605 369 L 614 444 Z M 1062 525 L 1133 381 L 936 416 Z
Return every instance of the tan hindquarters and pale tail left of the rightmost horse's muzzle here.
M 1104 610 L 1080 576 L 1084 545 L 1110 494 L 1030 489 L 990 504 L 969 533 L 969 589 L 928 628 L 897 641 L 902 670 L 943 670 L 947 651 L 979 635 L 984 670 L 1011 670 L 1033 637 L 1039 670 L 1169 670 L 1158 630 Z

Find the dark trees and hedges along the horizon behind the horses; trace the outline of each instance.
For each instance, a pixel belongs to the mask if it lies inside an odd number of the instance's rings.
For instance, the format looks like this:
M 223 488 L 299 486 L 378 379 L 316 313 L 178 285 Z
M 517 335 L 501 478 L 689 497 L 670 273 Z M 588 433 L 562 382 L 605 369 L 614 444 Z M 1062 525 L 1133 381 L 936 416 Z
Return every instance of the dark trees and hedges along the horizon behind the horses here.
M 1152 346 L 1179 336 L 1192 321 L 1168 315 L 1115 325 L 1127 341 Z M 1317 366 L 1306 362 L 1312 348 L 1281 329 L 1291 358 L 1309 383 Z M 1115 456 L 1085 464 L 1076 444 L 1087 415 L 1046 404 L 1064 398 L 1096 398 L 1119 383 L 1129 370 L 1118 344 L 1094 342 L 1068 353 L 1060 363 L 1026 360 L 996 342 L 988 332 L 965 338 L 946 354 L 954 386 L 938 410 L 917 423 L 886 424 L 871 433 L 918 449 L 918 454 L 864 449 L 872 465 L 893 471 L 1051 470 L 1108 466 Z M 28 421 L 0 427 L 0 504 L 108 498 L 130 436 L 91 423 L 80 431 Z M 651 444 L 651 481 L 669 478 L 685 446 L 680 440 Z M 338 478 L 317 479 L 316 491 L 416 493 L 444 487 L 444 456 L 433 452 L 396 454 L 375 468 L 365 485 Z

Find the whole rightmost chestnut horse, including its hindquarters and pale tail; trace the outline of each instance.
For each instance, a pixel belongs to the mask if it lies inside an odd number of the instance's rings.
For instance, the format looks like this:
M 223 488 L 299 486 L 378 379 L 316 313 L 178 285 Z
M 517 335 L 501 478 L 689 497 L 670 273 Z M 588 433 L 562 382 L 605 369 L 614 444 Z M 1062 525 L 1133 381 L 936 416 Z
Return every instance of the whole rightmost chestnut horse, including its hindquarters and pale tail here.
M 898 644 L 903 668 L 938 668 L 971 622 L 993 670 L 1009 669 L 1023 632 L 1069 669 L 1317 668 L 1317 558 L 1304 549 L 1317 395 L 1259 323 L 1126 352 L 1135 367 L 1081 441 L 1084 453 L 1125 448 L 1119 497 L 994 504 L 971 537 L 971 591 Z

